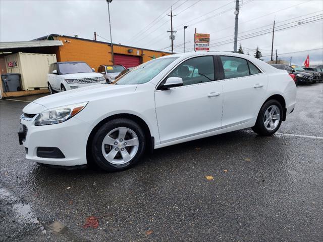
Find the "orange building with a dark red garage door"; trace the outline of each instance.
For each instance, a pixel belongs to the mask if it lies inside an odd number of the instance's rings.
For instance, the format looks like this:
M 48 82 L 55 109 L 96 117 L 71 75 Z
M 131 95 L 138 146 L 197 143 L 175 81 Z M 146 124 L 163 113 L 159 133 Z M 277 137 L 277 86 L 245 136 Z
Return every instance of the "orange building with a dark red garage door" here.
M 62 46 L 58 46 L 55 53 L 57 61 L 84 61 L 97 71 L 100 65 L 124 65 L 134 67 L 141 63 L 161 56 L 170 55 L 168 52 L 160 52 L 113 44 L 113 58 L 111 43 L 83 39 L 66 35 L 50 34 L 34 40 L 61 40 Z M 114 61 L 112 62 L 112 59 Z

